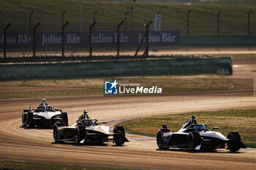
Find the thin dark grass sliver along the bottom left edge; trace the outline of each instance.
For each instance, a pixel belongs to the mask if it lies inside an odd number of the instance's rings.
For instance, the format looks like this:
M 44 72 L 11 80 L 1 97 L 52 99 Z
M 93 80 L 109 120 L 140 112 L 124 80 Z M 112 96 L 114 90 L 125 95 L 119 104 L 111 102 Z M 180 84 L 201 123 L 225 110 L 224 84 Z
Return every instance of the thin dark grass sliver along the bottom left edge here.
M 100 166 L 80 166 L 59 163 L 39 163 L 39 162 L 25 162 L 25 161 L 0 161 L 0 169 L 19 169 L 19 170 L 32 170 L 32 169 L 52 169 L 52 170 L 118 170 L 123 168 L 110 168 Z

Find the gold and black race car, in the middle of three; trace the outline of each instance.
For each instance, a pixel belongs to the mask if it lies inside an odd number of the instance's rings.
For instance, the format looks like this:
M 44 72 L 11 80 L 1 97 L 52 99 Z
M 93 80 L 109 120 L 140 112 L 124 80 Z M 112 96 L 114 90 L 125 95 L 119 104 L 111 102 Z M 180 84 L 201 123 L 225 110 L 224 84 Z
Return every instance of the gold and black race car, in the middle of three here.
M 97 119 L 89 118 L 84 111 L 74 125 L 66 126 L 64 123 L 56 123 L 53 127 L 53 139 L 56 143 L 71 141 L 77 144 L 113 142 L 121 145 L 129 142 L 122 126 L 115 126 L 113 133 L 110 133 L 110 127 L 102 125 L 105 123 L 107 122 L 98 123 Z

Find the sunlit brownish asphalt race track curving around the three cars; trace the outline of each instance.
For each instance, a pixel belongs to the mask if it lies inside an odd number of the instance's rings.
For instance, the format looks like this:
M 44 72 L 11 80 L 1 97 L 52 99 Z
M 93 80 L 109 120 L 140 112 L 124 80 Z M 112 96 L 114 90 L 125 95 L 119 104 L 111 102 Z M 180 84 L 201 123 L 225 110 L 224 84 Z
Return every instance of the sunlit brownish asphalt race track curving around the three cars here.
M 233 61 L 231 78 L 256 80 L 256 60 Z M 255 83 L 256 84 L 256 83 Z M 254 85 L 254 90 L 255 90 Z M 52 129 L 26 129 L 21 125 L 21 112 L 37 107 L 41 99 L 0 101 L 0 159 L 72 163 L 95 166 L 132 167 L 141 169 L 255 169 L 256 150 L 232 153 L 158 150 L 154 139 L 128 136 L 129 143 L 116 147 L 104 145 L 55 144 Z M 101 120 L 124 120 L 151 115 L 219 109 L 256 108 L 255 96 L 91 96 L 48 98 L 48 104 L 68 112 L 69 124 L 89 111 Z M 160 127 L 160 125 L 159 125 Z

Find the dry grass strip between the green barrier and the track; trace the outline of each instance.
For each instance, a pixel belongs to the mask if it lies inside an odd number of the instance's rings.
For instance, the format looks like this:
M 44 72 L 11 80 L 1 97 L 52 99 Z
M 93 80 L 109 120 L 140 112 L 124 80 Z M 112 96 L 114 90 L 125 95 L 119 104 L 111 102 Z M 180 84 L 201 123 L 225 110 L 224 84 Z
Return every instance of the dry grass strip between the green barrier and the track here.
M 183 76 L 110 77 L 72 80 L 20 80 L 0 82 L 0 98 L 42 98 L 59 96 L 103 95 L 105 80 L 139 83 L 162 88 L 163 93 L 231 90 L 233 82 L 222 75 L 200 74 Z

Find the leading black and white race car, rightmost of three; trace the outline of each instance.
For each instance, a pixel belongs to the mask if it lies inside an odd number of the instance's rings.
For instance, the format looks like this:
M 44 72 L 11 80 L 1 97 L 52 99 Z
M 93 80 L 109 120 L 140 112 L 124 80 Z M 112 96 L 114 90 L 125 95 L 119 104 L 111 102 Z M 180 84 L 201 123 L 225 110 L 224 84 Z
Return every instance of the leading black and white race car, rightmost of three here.
M 238 132 L 230 132 L 227 137 L 217 131 L 210 131 L 206 124 L 197 124 L 195 116 L 187 120 L 179 131 L 171 132 L 167 125 L 157 132 L 157 145 L 159 149 L 169 147 L 187 148 L 192 150 L 214 150 L 227 148 L 231 152 L 236 152 L 240 148 L 246 148 L 241 142 Z M 218 127 L 214 127 L 217 129 Z

